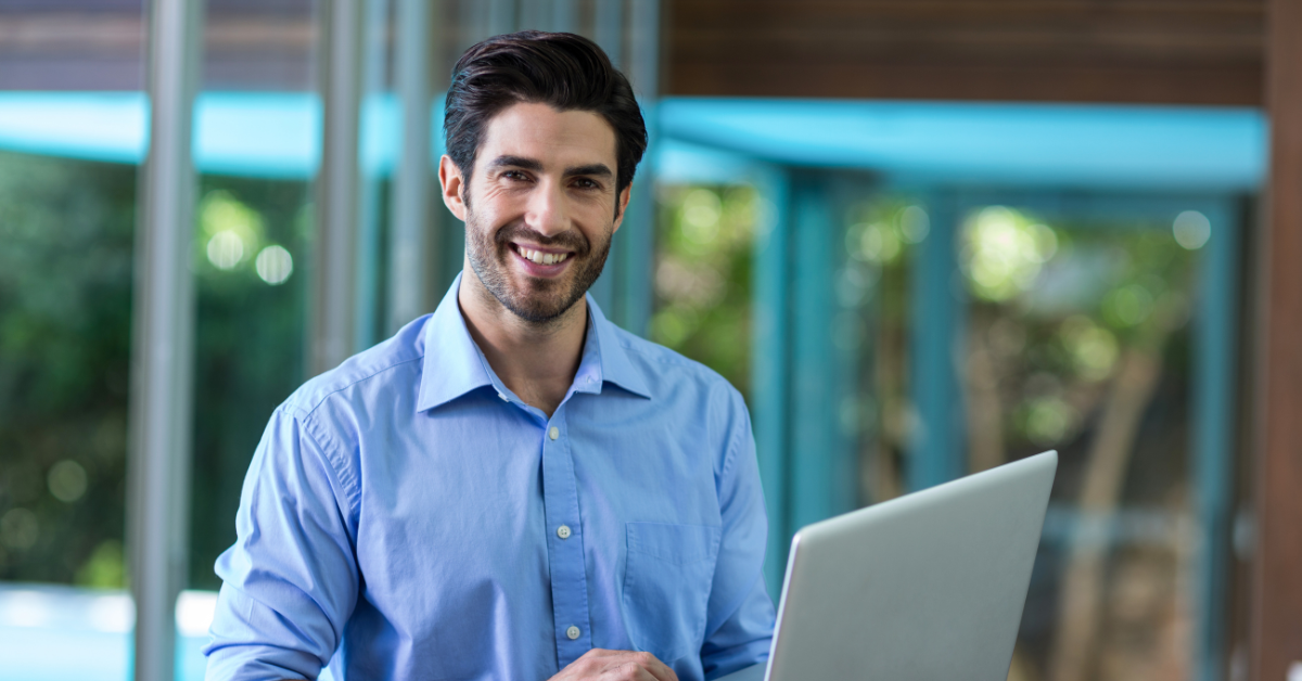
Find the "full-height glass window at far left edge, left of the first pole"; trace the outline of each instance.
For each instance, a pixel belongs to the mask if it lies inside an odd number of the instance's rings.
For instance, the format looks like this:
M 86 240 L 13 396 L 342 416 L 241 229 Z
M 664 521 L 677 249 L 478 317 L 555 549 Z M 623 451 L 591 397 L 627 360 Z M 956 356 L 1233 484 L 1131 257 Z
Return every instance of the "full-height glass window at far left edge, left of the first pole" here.
M 0 659 L 125 678 L 143 5 L 18 3 L 0 44 Z M 17 29 L 14 29 L 17 26 Z M 66 656 L 64 656 L 66 658 Z

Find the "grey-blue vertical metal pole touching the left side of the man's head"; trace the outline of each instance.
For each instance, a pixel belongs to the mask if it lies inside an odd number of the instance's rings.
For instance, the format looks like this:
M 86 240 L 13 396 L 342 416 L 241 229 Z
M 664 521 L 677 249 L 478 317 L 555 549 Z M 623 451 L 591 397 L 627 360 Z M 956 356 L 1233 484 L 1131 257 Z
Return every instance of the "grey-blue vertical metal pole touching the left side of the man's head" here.
M 402 143 L 393 176 L 393 221 L 389 241 L 389 318 L 387 331 L 424 314 L 431 302 L 430 254 L 432 195 L 437 193 L 430 172 L 430 59 L 431 13 L 436 0 L 398 0 L 397 60 L 395 76 L 402 107 Z M 434 8 L 431 8 L 434 5 Z

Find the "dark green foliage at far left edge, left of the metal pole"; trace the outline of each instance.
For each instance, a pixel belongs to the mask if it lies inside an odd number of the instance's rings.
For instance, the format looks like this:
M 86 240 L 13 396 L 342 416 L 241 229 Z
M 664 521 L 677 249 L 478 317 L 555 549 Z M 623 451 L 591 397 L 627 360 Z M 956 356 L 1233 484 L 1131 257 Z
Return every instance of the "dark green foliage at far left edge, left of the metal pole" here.
M 135 168 L 0 154 L 0 579 L 122 538 Z

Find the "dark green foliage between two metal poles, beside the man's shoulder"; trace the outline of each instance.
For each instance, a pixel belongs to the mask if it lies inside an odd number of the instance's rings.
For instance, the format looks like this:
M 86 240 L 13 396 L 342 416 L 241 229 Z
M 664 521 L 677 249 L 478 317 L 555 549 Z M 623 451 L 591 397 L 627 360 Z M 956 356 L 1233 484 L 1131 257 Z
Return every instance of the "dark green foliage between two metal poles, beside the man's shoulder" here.
M 195 211 L 194 469 L 190 586 L 216 589 L 212 564 L 234 542 L 240 488 L 262 431 L 303 380 L 307 182 L 207 176 Z M 211 247 L 223 234 L 232 249 Z M 219 241 L 220 245 L 220 241 Z M 259 257 L 284 247 L 288 279 L 273 284 Z M 238 258 L 233 257 L 238 253 Z

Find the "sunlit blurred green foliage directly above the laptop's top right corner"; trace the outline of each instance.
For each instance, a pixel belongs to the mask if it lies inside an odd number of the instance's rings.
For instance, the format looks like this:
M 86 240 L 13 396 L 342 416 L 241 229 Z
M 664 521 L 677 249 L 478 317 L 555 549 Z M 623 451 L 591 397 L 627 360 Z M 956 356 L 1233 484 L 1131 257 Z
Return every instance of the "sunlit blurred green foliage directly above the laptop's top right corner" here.
M 1090 432 L 1126 348 L 1160 352 L 1168 384 L 1184 384 L 1187 335 L 1173 332 L 1189 318 L 1187 249 L 1164 225 L 1048 227 L 1003 206 L 969 216 L 973 353 L 995 371 L 1010 448 L 1062 448 Z

